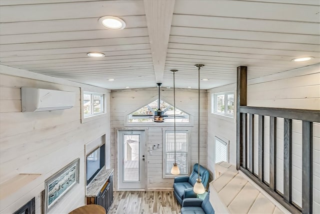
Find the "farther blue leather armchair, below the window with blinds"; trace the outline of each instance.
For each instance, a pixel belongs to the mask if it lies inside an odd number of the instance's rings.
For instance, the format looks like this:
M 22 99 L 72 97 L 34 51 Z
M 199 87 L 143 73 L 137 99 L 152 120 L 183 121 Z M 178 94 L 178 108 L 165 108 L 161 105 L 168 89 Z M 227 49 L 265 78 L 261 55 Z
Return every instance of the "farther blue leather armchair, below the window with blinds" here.
M 209 179 L 209 171 L 200 165 L 200 179 L 206 187 Z M 177 201 L 182 204 L 183 198 L 196 197 L 196 193 L 193 192 L 193 185 L 198 178 L 198 164 L 194 164 L 193 170 L 190 176 L 180 176 L 174 178 L 173 193 Z

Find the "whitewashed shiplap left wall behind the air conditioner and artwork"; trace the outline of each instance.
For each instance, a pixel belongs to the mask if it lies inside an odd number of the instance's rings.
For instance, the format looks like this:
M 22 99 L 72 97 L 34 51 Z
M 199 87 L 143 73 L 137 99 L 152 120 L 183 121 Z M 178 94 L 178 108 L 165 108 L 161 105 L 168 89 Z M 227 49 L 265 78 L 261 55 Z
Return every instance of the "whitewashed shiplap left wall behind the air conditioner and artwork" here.
M 66 110 L 21 112 L 22 86 L 73 91 L 76 94 L 75 105 Z M 0 213 L 12 213 L 32 197 L 36 198 L 36 213 L 40 213 L 40 192 L 44 189 L 45 179 L 76 158 L 80 158 L 79 183 L 73 186 L 48 213 L 67 213 L 85 204 L 84 145 L 103 134 L 106 134 L 106 143 L 110 144 L 110 114 L 107 107 L 106 114 L 81 123 L 80 87 L 83 90 L 105 93 L 109 105 L 110 92 L 106 89 L 1 66 L 1 183 L 10 180 L 18 173 L 41 175 L 1 199 Z

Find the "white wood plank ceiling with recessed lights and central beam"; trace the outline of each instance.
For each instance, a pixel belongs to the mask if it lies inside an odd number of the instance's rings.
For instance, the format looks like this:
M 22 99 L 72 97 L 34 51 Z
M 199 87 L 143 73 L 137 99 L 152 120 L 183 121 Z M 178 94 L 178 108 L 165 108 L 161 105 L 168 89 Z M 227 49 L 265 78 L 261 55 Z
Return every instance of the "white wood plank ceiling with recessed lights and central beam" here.
M 318 0 L 0 0 L 0 64 L 108 89 L 201 89 L 320 62 Z M 123 30 L 98 23 L 116 16 Z M 89 58 L 101 52 L 104 58 Z M 312 56 L 307 62 L 292 62 Z M 114 81 L 108 81 L 114 79 Z

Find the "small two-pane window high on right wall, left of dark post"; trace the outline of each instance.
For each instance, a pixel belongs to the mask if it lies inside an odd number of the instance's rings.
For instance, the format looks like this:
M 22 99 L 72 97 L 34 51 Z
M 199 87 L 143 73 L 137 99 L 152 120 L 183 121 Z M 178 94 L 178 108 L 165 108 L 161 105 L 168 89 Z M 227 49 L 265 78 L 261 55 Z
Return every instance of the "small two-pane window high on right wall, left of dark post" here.
M 212 113 L 233 117 L 234 93 L 225 92 L 212 94 Z

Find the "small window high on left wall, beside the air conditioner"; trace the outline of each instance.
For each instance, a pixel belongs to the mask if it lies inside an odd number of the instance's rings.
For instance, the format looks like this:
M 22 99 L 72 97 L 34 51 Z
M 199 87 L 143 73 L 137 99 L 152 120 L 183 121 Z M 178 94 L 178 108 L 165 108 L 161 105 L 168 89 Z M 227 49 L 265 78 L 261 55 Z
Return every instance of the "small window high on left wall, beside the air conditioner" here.
M 104 113 L 103 94 L 83 92 L 83 117 Z

